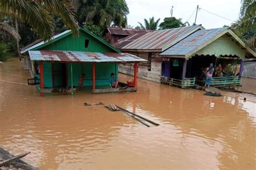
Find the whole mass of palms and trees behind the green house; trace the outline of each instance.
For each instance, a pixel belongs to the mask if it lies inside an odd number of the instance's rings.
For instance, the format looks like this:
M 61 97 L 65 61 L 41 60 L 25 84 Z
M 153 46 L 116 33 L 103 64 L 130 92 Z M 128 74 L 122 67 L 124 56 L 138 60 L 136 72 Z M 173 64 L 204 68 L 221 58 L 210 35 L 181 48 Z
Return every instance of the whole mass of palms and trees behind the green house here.
M 67 29 L 77 34 L 78 25 L 103 38 L 106 26 L 125 27 L 128 13 L 125 0 L 1 0 L 0 43 L 16 55 L 19 45 Z

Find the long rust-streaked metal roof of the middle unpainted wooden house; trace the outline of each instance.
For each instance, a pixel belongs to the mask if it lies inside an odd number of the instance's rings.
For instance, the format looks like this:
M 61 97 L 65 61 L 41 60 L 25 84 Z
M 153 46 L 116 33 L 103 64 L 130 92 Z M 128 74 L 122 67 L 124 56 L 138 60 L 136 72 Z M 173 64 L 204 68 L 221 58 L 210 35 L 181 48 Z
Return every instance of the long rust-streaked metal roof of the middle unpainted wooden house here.
M 194 25 L 176 29 L 137 33 L 119 40 L 113 46 L 125 51 L 162 52 L 193 32 L 201 29 L 204 29 L 204 27 Z

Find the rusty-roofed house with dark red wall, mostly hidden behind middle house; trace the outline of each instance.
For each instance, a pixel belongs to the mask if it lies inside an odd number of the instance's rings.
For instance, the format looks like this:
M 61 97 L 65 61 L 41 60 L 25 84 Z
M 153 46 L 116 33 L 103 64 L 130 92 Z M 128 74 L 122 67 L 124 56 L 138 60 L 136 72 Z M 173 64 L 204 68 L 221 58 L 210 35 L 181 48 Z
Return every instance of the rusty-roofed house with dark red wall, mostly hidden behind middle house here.
M 146 33 L 151 32 L 150 30 L 140 30 L 140 29 L 126 29 L 117 26 L 107 27 L 106 38 L 109 40 L 109 43 L 112 45 L 117 42 L 119 39 L 125 38 L 135 33 Z

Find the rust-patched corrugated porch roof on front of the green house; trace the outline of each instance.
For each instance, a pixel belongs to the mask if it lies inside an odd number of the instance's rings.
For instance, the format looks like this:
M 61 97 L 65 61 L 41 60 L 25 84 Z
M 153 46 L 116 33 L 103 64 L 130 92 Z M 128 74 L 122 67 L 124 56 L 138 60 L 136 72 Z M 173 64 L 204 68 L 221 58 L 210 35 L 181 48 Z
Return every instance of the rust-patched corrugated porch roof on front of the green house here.
M 63 62 L 143 62 L 147 61 L 127 53 L 99 53 L 76 51 L 29 51 L 30 60 Z

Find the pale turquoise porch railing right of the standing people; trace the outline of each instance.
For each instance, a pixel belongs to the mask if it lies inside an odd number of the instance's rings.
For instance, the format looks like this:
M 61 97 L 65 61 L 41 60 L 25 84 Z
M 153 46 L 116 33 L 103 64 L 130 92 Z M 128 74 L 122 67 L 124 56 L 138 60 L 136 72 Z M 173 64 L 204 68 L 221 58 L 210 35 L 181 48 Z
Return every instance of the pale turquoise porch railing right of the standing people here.
M 213 77 L 211 81 L 212 86 L 238 86 L 241 84 L 241 77 Z

